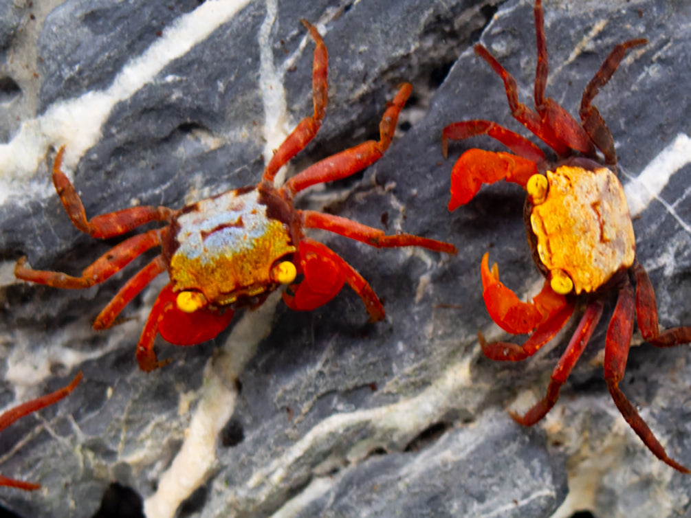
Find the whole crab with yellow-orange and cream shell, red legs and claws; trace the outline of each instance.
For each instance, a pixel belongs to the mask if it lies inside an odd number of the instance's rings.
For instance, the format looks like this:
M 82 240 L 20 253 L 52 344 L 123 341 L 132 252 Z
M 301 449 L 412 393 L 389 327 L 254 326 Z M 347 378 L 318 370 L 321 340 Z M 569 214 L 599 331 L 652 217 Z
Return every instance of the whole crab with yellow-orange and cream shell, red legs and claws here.
M 542 419 L 556 403 L 560 387 L 567 380 L 588 343 L 605 299 L 613 291 L 617 302 L 605 338 L 605 381 L 618 410 L 652 453 L 672 468 L 689 473 L 671 459 L 619 387 L 623 379 L 634 315 L 643 338 L 656 347 L 672 347 L 691 341 L 691 327 L 661 331 L 655 295 L 643 266 L 636 260 L 636 242 L 626 198 L 616 175 L 616 152 L 612 134 L 598 109 L 591 104 L 600 88 L 607 84 L 628 49 L 647 43 L 632 39 L 610 52 L 598 73 L 583 91 L 580 124 L 557 102 L 545 97 L 547 84 L 547 44 L 542 3 L 533 9 L 538 47 L 535 79 L 535 111 L 518 101 L 515 79 L 481 44 L 475 53 L 482 57 L 504 81 L 511 115 L 547 144 L 557 155 L 549 162 L 545 153 L 527 138 L 487 120 L 456 122 L 444 128 L 442 152 L 448 140 L 489 135 L 513 153 L 480 149 L 465 151 L 451 173 L 453 211 L 470 201 L 482 184 L 502 178 L 527 191 L 524 222 L 533 260 L 545 276 L 542 291 L 532 302 L 519 300 L 499 280 L 496 264 L 489 267 L 485 253 L 480 267 L 482 296 L 495 323 L 511 334 L 530 334 L 522 344 L 486 343 L 478 333 L 482 350 L 498 361 L 520 361 L 565 326 L 577 303 L 585 304 L 569 345 L 551 375 L 546 396 L 526 414 L 511 413 L 515 421 L 530 426 Z M 598 159 L 597 150 L 604 163 Z M 636 290 L 632 286 L 636 284 Z

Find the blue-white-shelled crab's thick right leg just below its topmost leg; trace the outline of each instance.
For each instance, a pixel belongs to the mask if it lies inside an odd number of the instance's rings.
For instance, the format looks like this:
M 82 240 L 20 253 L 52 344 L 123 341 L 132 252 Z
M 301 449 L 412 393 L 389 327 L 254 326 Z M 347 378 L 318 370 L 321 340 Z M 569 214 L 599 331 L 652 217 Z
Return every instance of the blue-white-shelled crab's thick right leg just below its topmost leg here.
M 292 194 L 299 193 L 314 184 L 347 178 L 358 171 L 362 171 L 368 165 L 377 162 L 384 155 L 384 151 L 386 151 L 389 144 L 391 144 L 391 139 L 396 131 L 398 115 L 401 113 L 404 104 L 406 104 L 411 91 L 413 91 L 413 86 L 410 84 L 404 83 L 401 85 L 396 97 L 386 108 L 384 117 L 381 117 L 381 122 L 379 123 L 379 142 L 368 140 L 350 149 L 341 151 L 341 153 L 320 160 L 305 169 L 305 171 L 290 178 L 290 180 L 285 182 L 283 189 Z

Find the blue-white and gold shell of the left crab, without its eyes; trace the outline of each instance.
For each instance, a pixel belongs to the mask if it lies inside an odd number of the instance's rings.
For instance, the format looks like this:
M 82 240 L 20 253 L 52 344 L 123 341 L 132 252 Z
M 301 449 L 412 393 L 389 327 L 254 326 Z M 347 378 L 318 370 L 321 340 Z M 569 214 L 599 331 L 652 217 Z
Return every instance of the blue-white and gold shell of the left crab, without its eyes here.
M 296 250 L 287 202 L 248 186 L 184 207 L 162 255 L 173 291 L 199 292 L 212 306 L 256 305 L 279 285 L 272 267 Z

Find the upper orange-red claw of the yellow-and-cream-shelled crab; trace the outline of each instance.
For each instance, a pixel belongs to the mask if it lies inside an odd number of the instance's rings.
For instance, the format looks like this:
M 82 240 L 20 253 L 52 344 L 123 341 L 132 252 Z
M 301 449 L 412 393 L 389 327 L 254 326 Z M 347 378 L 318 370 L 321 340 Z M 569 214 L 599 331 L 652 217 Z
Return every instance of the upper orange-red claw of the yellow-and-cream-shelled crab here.
M 472 200 L 482 184 L 493 184 L 504 178 L 507 182 L 525 188 L 528 179 L 537 172 L 535 162 L 518 155 L 468 149 L 451 170 L 451 200 L 448 202 L 448 210 L 455 211 Z

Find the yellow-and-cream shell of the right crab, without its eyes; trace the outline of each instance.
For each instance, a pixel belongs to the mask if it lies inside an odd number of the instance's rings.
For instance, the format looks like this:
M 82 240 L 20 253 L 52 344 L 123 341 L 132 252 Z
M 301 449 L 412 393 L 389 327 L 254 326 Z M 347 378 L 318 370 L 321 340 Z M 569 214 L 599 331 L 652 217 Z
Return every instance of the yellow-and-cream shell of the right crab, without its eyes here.
M 547 278 L 567 274 L 576 294 L 603 287 L 636 257 L 621 182 L 592 160 L 571 158 L 547 171 L 545 200 L 528 197 L 524 219 L 538 269 Z

